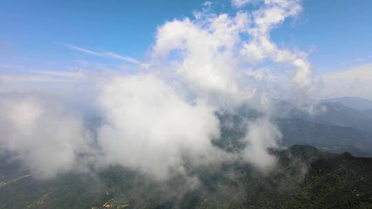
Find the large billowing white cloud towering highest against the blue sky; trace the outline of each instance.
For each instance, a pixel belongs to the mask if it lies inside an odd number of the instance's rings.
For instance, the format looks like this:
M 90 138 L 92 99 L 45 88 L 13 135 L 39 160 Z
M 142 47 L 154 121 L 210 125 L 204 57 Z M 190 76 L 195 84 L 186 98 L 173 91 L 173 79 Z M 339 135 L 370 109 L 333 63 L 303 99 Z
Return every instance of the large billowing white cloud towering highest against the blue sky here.
M 249 98 L 255 87 L 247 89 L 242 80 L 241 65 L 257 65 L 265 59 L 274 63 L 289 63 L 296 68 L 292 82 L 309 91 L 313 85 L 311 65 L 304 52 L 280 49 L 269 39 L 273 27 L 298 14 L 299 1 L 263 1 L 265 6 L 235 16 L 197 12 L 196 19 L 170 21 L 158 28 L 152 50 L 154 63 L 173 63 L 176 73 L 198 93 L 225 94 Z M 242 39 L 242 34 L 251 39 Z M 160 64 L 159 64 L 160 63 Z M 287 72 L 282 72 L 287 74 Z

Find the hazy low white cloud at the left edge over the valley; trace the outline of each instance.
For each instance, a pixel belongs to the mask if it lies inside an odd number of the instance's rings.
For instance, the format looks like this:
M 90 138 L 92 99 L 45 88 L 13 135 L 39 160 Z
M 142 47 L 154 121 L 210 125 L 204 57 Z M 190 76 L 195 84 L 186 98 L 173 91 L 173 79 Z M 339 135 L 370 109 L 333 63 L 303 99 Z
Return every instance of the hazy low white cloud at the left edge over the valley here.
M 70 171 L 87 148 L 82 120 L 45 98 L 1 94 L 0 113 L 0 151 L 17 153 L 36 178 Z

